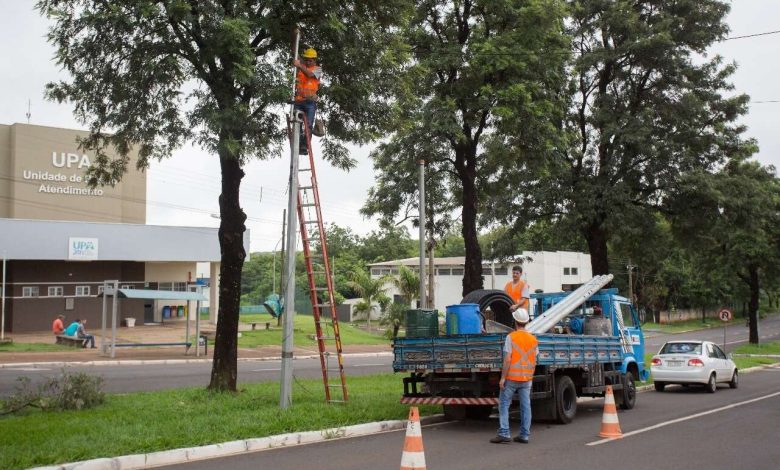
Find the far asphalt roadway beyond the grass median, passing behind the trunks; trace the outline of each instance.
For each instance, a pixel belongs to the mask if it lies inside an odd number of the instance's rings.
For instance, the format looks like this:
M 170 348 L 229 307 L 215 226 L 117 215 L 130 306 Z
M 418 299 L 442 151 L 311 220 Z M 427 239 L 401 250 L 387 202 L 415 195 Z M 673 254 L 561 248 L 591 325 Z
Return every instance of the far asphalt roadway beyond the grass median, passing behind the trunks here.
M 759 334 L 761 341 L 780 339 L 780 315 L 774 315 L 769 319 L 763 320 L 760 323 Z M 712 328 L 678 335 L 646 332 L 646 351 L 656 352 L 670 339 L 701 339 L 723 344 L 723 329 Z M 731 351 L 736 345 L 747 343 L 747 340 L 748 329 L 744 326 L 744 323 L 735 322 L 727 327 L 727 352 Z M 390 355 L 380 357 L 345 356 L 344 364 L 347 375 L 382 373 L 392 370 L 392 357 Z M 238 363 L 239 384 L 278 381 L 280 368 L 280 361 L 240 361 Z M 83 371 L 102 376 L 105 379 L 104 389 L 110 393 L 205 387 L 208 385 L 211 377 L 210 362 L 120 366 L 71 364 L 68 366 L 68 370 Z M 60 368 L 55 367 L 2 368 L 0 369 L 0 397 L 7 396 L 14 390 L 17 377 L 27 376 L 35 384 L 43 381 L 46 377 L 59 375 L 59 373 Z M 321 377 L 319 359 L 296 359 L 294 361 L 294 375 L 298 378 L 316 379 Z

